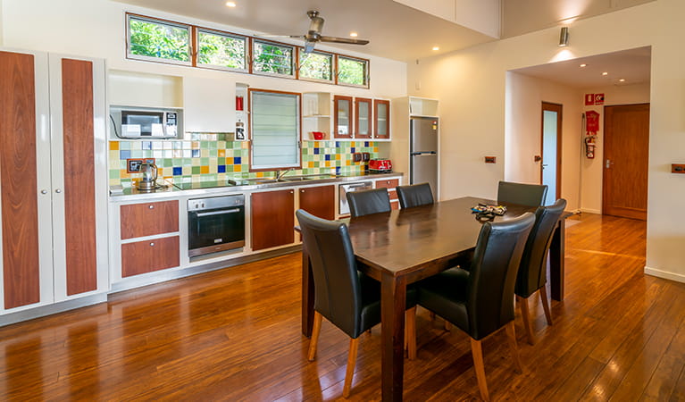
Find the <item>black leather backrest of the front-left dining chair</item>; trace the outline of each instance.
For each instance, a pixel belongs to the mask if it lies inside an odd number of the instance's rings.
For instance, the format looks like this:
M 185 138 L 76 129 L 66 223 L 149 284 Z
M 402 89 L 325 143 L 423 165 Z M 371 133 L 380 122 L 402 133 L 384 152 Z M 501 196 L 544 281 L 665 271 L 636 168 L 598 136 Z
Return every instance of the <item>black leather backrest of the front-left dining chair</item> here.
M 362 333 L 362 285 L 347 225 L 298 209 L 297 222 L 314 278 L 314 310 L 351 338 Z

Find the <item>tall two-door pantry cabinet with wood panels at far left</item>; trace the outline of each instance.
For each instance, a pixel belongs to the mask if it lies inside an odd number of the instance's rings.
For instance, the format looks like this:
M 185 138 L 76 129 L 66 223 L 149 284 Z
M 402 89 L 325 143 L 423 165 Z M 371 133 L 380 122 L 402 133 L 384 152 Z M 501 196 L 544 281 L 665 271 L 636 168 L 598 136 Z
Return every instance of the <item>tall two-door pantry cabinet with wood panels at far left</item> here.
M 109 289 L 106 115 L 104 60 L 0 49 L 0 314 Z

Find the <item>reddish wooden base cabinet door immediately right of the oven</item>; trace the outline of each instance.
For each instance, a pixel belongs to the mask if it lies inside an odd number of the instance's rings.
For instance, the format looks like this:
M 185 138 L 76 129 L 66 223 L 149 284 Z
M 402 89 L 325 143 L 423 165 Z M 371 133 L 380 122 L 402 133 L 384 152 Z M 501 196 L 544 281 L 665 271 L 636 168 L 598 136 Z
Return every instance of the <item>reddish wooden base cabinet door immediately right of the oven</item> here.
M 295 241 L 295 192 L 292 189 L 252 194 L 252 249 Z

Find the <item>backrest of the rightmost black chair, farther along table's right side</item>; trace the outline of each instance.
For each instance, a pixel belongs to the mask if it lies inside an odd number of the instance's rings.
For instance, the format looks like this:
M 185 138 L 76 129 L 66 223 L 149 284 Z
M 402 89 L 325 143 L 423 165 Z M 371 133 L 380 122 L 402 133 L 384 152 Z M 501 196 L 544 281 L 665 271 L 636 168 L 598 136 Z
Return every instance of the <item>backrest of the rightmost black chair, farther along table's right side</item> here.
M 559 222 L 559 218 L 564 214 L 565 207 L 566 200 L 561 198 L 556 200 L 554 205 L 540 206 L 535 211 L 535 225 L 530 230 L 516 278 L 514 292 L 518 296 L 529 297 L 530 294 L 545 286 L 547 251 L 552 243 L 556 222 Z

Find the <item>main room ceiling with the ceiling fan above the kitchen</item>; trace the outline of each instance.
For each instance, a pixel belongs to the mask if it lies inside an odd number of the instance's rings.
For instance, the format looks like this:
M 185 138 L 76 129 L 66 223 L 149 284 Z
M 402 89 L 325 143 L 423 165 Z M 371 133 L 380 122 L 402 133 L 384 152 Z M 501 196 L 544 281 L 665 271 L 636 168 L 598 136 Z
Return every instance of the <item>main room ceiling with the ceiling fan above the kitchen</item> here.
M 495 40 L 475 30 L 422 13 L 393 0 L 119 0 L 245 29 L 247 34 L 304 35 L 309 27 L 308 10 L 317 10 L 326 21 L 322 34 L 369 39 L 366 46 L 318 44 L 318 48 L 359 52 L 389 59 L 410 61 L 445 54 Z M 288 42 L 288 39 L 279 39 Z M 297 39 L 290 39 L 297 44 Z M 439 46 L 439 51 L 432 50 Z

